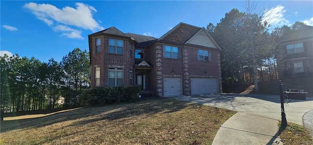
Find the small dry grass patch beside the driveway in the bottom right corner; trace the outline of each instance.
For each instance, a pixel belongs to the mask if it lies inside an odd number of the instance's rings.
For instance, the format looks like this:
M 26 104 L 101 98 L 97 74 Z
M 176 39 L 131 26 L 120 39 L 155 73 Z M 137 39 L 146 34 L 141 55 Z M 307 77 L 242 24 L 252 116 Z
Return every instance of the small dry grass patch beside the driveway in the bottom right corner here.
M 280 131 L 279 137 L 285 145 L 313 145 L 312 136 L 300 125 L 288 123 L 288 126 Z

